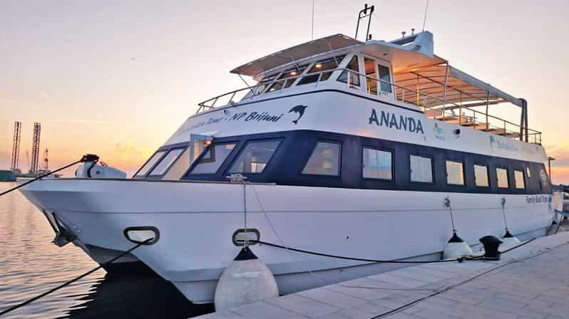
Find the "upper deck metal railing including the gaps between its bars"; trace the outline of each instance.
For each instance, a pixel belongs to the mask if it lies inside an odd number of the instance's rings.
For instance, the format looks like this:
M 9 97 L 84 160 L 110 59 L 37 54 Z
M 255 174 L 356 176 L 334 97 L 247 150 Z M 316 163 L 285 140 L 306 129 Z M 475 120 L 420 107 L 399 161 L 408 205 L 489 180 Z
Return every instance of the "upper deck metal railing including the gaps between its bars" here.
M 396 100 L 402 103 L 408 103 L 412 105 L 416 105 L 419 108 L 423 108 L 424 113 L 426 113 L 427 117 L 434 118 L 435 120 L 442 120 L 444 122 L 452 122 L 453 124 L 470 127 L 473 130 L 482 130 L 486 132 L 493 132 L 496 135 L 503 135 L 505 137 L 511 138 L 520 138 L 526 137 L 527 142 L 533 142 L 536 144 L 541 144 L 541 132 L 536 130 L 531 130 L 528 127 L 523 127 L 520 124 L 516 124 L 514 122 L 510 122 L 508 120 L 504 120 L 500 117 L 496 117 L 494 115 L 488 114 L 488 105 L 495 104 L 496 101 L 491 101 L 487 99 L 486 101 L 481 100 L 481 102 L 486 102 L 486 112 L 481 112 L 478 110 L 473 110 L 471 106 L 463 105 L 463 103 L 457 104 L 453 103 L 445 98 L 439 98 L 435 95 L 430 95 L 427 93 L 420 92 L 419 90 L 414 90 L 411 88 L 404 87 L 402 85 L 398 85 L 396 83 L 392 83 L 386 80 L 381 80 L 380 78 L 374 78 L 370 75 L 358 73 L 354 70 L 348 68 L 336 68 L 332 70 L 322 70 L 314 73 L 307 73 L 304 75 L 294 75 L 289 78 L 282 78 L 276 80 L 270 80 L 266 82 L 259 82 L 255 85 L 249 86 L 247 88 L 240 88 L 238 90 L 232 90 L 229 93 L 224 93 L 222 95 L 217 95 L 214 98 L 210 98 L 209 100 L 205 100 L 202 103 L 198 103 L 200 108 L 196 113 L 202 113 L 206 110 L 210 110 L 215 108 L 215 105 L 234 105 L 238 102 L 242 102 L 243 100 L 248 100 L 255 98 L 263 93 L 267 92 L 280 92 L 283 89 L 289 88 L 296 82 L 298 78 L 304 77 L 314 77 L 317 76 L 317 80 L 310 83 L 305 83 L 302 85 L 314 85 L 317 87 L 320 82 L 322 82 L 322 75 L 326 73 L 334 73 L 335 71 L 341 70 L 342 73 L 347 72 L 347 82 L 337 81 L 338 83 L 346 83 L 347 87 L 355 88 L 354 87 L 354 77 L 363 77 L 366 80 L 376 81 L 376 88 L 379 94 L 381 92 L 381 83 L 387 84 L 391 87 L 392 94 L 395 95 Z M 330 76 L 329 78 L 332 78 Z M 328 78 L 326 79 L 328 80 Z M 292 81 L 291 85 L 287 85 L 288 81 Z M 362 78 L 359 78 L 359 84 L 361 85 Z M 280 88 L 276 90 L 270 91 L 273 88 L 275 83 L 280 83 Z M 298 85 L 298 84 L 297 84 Z M 398 92 L 399 91 L 399 92 Z M 376 95 L 378 94 L 376 93 Z M 388 93 L 388 92 L 385 92 Z M 374 93 L 369 93 L 374 94 Z M 409 98 L 411 96 L 411 98 Z M 439 105 L 429 106 L 429 101 L 437 100 L 440 102 Z M 422 103 L 421 103 L 422 102 Z M 483 106 L 483 104 L 477 104 L 476 106 Z M 458 114 L 454 113 L 454 110 L 458 109 Z M 431 115 L 429 115 L 431 113 Z M 496 120 L 501 122 L 500 126 L 497 125 L 490 125 L 489 120 Z M 517 127 L 516 130 L 510 130 L 511 127 Z

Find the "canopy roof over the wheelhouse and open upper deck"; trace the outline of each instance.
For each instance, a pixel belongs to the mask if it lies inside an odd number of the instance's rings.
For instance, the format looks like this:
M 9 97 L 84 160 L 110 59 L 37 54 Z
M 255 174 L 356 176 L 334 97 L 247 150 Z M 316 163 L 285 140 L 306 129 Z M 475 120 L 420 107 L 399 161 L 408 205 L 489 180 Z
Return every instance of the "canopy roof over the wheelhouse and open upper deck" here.
M 357 41 L 349 36 L 334 34 L 314 41 L 299 44 L 269 56 L 257 59 L 233 69 L 232 73 L 256 77 L 274 68 L 296 63 L 306 58 L 314 58 L 322 53 L 352 47 L 354 51 L 376 56 L 391 63 L 396 85 L 431 95 L 425 97 L 409 90 L 396 88 L 398 99 L 405 99 L 427 108 L 446 104 L 471 103 L 463 107 L 510 102 L 523 106 L 523 101 L 494 88 L 492 85 L 474 78 L 457 68 L 448 66 L 448 61 L 434 55 L 433 34 L 429 31 L 415 33 L 394 41 Z M 417 99 L 420 101 L 417 101 Z M 473 103 L 475 102 L 475 103 Z M 453 107 L 450 106 L 449 109 Z

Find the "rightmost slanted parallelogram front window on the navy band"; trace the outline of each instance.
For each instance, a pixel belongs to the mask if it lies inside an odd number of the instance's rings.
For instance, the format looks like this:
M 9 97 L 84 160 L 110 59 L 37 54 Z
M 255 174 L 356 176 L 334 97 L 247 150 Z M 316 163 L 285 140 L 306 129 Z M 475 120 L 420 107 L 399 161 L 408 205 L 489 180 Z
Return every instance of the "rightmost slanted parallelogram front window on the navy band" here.
M 281 140 L 257 140 L 247 142 L 230 173 L 262 173 L 271 160 Z

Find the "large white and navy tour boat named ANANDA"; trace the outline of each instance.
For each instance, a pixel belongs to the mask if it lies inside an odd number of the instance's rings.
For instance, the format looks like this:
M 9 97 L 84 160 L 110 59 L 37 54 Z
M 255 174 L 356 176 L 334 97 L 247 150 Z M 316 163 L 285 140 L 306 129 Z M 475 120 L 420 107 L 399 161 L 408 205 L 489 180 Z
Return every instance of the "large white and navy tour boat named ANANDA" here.
M 143 265 L 193 303 L 211 303 L 246 241 L 287 294 L 401 265 L 258 241 L 431 261 L 454 230 L 476 249 L 486 234 L 503 236 L 504 214 L 521 240 L 552 222 L 528 103 L 434 54 L 429 31 L 394 41 L 334 34 L 231 73 L 255 84 L 200 103 L 133 177 L 83 174 L 92 162 L 78 177 L 22 187 L 56 244 L 105 263 L 152 239 L 103 266 Z M 491 113 L 503 105 L 520 122 Z

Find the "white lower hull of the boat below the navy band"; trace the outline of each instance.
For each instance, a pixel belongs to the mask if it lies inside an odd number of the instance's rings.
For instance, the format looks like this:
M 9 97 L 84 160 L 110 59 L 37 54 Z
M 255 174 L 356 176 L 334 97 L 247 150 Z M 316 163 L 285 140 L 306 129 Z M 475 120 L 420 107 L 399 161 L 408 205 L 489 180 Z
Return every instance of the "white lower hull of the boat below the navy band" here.
M 548 194 L 272 184 L 254 188 L 247 185 L 247 226 L 258 229 L 262 241 L 359 258 L 440 258 L 452 234 L 446 197 L 451 199 L 459 236 L 471 246 L 483 235 L 503 235 L 503 197 L 509 229 L 522 240 L 544 236 L 553 218 Z M 134 244 L 123 235 L 125 228 L 155 226 L 160 231 L 158 242 L 135 249 L 133 256 L 173 282 L 194 303 L 212 302 L 217 279 L 240 251 L 232 243 L 232 235 L 243 228 L 242 184 L 48 179 L 21 190 L 40 209 L 56 214 L 82 245 L 126 251 Z M 528 201 L 528 197 L 539 197 L 539 201 Z M 275 274 L 281 294 L 401 266 L 313 256 L 259 244 L 252 250 Z

